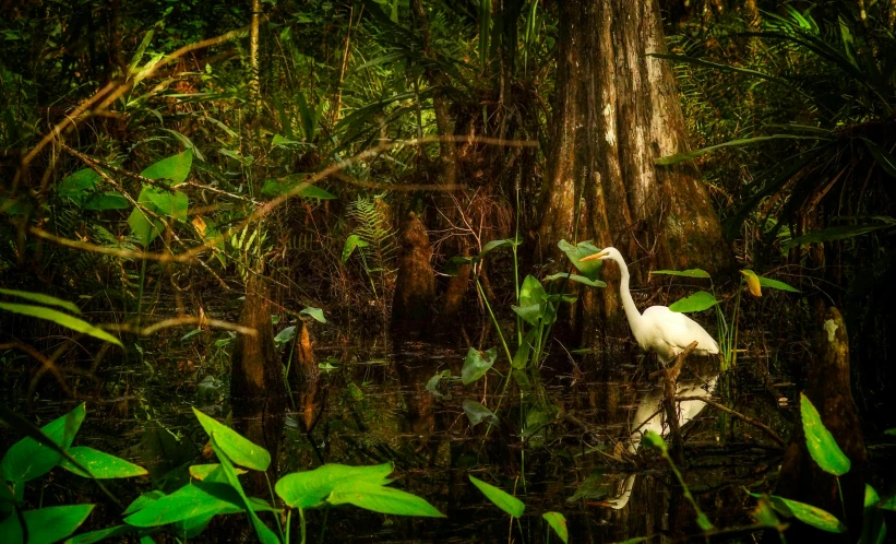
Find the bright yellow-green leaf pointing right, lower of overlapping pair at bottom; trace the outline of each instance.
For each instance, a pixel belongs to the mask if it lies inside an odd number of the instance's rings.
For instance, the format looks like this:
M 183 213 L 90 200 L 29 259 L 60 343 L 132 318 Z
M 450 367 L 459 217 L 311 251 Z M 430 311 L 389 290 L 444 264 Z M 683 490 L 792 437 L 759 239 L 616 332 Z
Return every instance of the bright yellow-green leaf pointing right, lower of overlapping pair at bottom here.
M 365 510 L 394 516 L 444 518 L 425 499 L 401 489 L 369 482 L 343 482 L 326 498 L 331 505 L 355 505 Z

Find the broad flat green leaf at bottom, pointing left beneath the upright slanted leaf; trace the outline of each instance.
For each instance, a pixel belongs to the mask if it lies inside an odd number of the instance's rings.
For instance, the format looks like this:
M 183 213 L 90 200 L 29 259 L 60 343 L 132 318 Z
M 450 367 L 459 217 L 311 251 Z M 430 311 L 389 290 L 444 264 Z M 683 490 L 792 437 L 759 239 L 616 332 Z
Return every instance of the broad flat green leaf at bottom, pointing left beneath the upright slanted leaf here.
M 239 493 L 228 484 L 199 482 L 160 497 L 124 518 L 134 527 L 159 527 L 204 515 L 242 511 Z

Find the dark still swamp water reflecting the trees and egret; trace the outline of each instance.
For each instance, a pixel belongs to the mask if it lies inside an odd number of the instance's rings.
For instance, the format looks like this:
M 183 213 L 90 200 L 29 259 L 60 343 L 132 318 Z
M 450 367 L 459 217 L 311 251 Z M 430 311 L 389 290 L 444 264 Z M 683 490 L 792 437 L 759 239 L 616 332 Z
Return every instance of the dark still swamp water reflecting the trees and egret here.
M 169 346 L 168 362 L 108 368 L 104 374 L 119 394 L 88 401 L 76 444 L 120 454 L 151 472 L 136 486 L 133 481 L 109 482 L 126 505 L 153 487 L 182 485 L 190 464 L 213 462 L 203 454 L 207 438 L 191 406 L 219 421 L 227 417 L 228 386 L 218 379 L 226 376 L 227 342 L 202 355 L 187 347 L 190 342 L 181 344 L 180 351 Z M 469 386 L 461 382 L 466 350 L 342 336 L 321 339 L 315 352 L 321 368 L 315 423 L 306 434 L 300 411 L 289 411 L 280 475 L 322 461 L 392 461 L 393 485 L 425 497 L 446 518 L 382 516 L 354 507 L 309 510 L 308 542 L 559 542 L 541 519 L 548 511 L 566 518 L 570 542 L 638 536 L 680 542 L 682 534 L 704 540 L 696 536 L 694 510 L 673 485 L 668 464 L 646 448 L 625 454 L 635 449 L 629 440 L 632 422 L 643 419 L 638 414 L 658 399 L 648 378 L 656 365 L 653 356 L 626 345 L 577 365 L 566 356 L 549 358 L 529 379 L 528 391 L 521 393 L 513 383 L 502 394 L 503 380 L 494 371 Z M 753 364 L 749 355 L 742 357 L 724 402 L 787 440 L 799 421 L 799 391 L 784 377 L 773 377 L 773 387 L 761 382 L 749 370 Z M 505 366 L 495 365 L 502 372 Z M 443 378 L 434 383 L 440 372 Z M 720 400 L 718 388 L 714 399 Z M 470 401 L 495 411 L 501 423 L 473 425 L 465 411 Z M 48 418 L 64 410 L 39 398 L 33 409 Z M 756 501 L 746 488 L 773 490 L 782 448 L 763 430 L 722 418 L 712 407 L 683 430 L 689 488 L 715 527 L 731 531 L 712 541 L 758 541 L 760 532 L 738 529 L 753 523 L 750 512 Z M 884 466 L 892 466 L 893 445 L 870 444 L 869 452 L 872 483 L 891 489 L 896 478 Z M 101 502 L 89 482 L 58 472 L 43 488 L 33 483 L 31 493 L 39 488 L 45 504 L 51 497 Z M 470 484 L 470 474 L 513 493 L 526 505 L 525 515 L 512 521 Z M 611 508 L 613 502 L 620 508 Z M 110 527 L 118 523 L 116 515 L 103 505 L 87 524 Z M 216 520 L 191 542 L 234 541 L 230 523 Z

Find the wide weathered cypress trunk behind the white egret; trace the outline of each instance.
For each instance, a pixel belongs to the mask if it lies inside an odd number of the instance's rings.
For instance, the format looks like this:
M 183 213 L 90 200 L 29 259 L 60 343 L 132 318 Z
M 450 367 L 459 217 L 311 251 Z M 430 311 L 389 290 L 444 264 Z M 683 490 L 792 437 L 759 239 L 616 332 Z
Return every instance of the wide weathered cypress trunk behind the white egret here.
M 560 239 L 593 239 L 635 263 L 636 282 L 646 281 L 650 267 L 728 268 L 729 249 L 698 173 L 654 164 L 688 149 L 671 67 L 647 57 L 665 51 L 656 0 L 560 2 L 542 258 L 562 258 Z M 637 264 L 645 258 L 646 265 Z M 578 307 L 583 330 L 593 329 L 601 308 L 604 318 L 621 315 L 613 288 L 585 291 Z

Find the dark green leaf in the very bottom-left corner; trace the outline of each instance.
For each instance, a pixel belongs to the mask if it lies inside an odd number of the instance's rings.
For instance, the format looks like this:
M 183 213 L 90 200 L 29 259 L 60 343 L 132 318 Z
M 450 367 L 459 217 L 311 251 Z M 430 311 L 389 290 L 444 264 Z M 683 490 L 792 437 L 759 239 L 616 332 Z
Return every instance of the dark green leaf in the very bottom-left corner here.
M 52 544 L 69 536 L 84 523 L 94 505 L 50 506 L 22 512 L 28 528 L 28 544 Z M 0 537 L 4 543 L 23 541 L 22 525 L 17 516 L 10 516 L 0 523 Z

